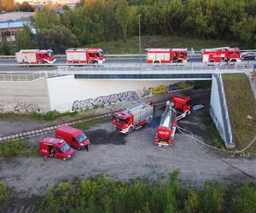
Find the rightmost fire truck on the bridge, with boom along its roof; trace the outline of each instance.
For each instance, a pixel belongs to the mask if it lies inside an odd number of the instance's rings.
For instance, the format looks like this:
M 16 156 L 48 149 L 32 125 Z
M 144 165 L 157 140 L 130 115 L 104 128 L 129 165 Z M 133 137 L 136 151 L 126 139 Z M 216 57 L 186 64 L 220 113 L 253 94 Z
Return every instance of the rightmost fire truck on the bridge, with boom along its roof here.
M 238 48 L 215 48 L 201 49 L 201 58 L 203 62 L 240 62 L 241 51 Z

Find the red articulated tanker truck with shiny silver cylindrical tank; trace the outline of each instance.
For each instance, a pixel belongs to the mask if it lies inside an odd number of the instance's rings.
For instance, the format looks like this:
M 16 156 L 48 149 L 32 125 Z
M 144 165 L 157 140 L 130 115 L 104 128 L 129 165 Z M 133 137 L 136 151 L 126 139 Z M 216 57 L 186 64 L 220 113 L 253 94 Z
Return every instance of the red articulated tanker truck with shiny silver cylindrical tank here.
M 158 147 L 172 147 L 177 121 L 190 114 L 191 105 L 189 101 L 190 97 L 174 95 L 172 101 L 166 102 L 166 110 L 154 137 L 154 143 Z

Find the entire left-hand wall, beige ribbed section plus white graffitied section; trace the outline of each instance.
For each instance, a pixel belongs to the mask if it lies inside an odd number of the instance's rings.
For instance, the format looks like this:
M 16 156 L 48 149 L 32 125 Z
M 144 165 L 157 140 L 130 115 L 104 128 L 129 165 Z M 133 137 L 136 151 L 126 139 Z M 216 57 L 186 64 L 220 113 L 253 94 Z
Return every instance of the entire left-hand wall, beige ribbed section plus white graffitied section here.
M 77 79 L 73 75 L 33 81 L 0 81 L 0 112 L 80 111 L 137 101 L 191 87 L 173 80 Z

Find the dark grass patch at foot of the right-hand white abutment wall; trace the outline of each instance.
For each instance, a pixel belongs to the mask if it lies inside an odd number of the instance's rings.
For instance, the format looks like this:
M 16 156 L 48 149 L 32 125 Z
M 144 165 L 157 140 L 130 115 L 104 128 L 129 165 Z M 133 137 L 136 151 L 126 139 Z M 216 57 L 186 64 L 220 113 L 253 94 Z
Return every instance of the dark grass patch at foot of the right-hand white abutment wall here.
M 222 140 L 221 136 L 218 133 L 218 130 L 215 126 L 215 124 L 212 121 L 212 118 L 209 113 L 205 115 L 202 118 L 203 124 L 206 126 L 208 130 L 208 135 L 207 135 L 207 143 L 211 144 L 214 147 L 218 148 L 224 148 L 224 141 Z

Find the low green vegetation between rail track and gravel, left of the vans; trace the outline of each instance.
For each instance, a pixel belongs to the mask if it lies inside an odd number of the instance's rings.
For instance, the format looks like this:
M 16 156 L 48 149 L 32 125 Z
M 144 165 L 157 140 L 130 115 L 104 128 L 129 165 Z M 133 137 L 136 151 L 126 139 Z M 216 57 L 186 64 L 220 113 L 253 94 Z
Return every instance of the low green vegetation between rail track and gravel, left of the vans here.
M 38 142 L 7 141 L 0 143 L 0 158 L 37 156 L 38 154 Z

